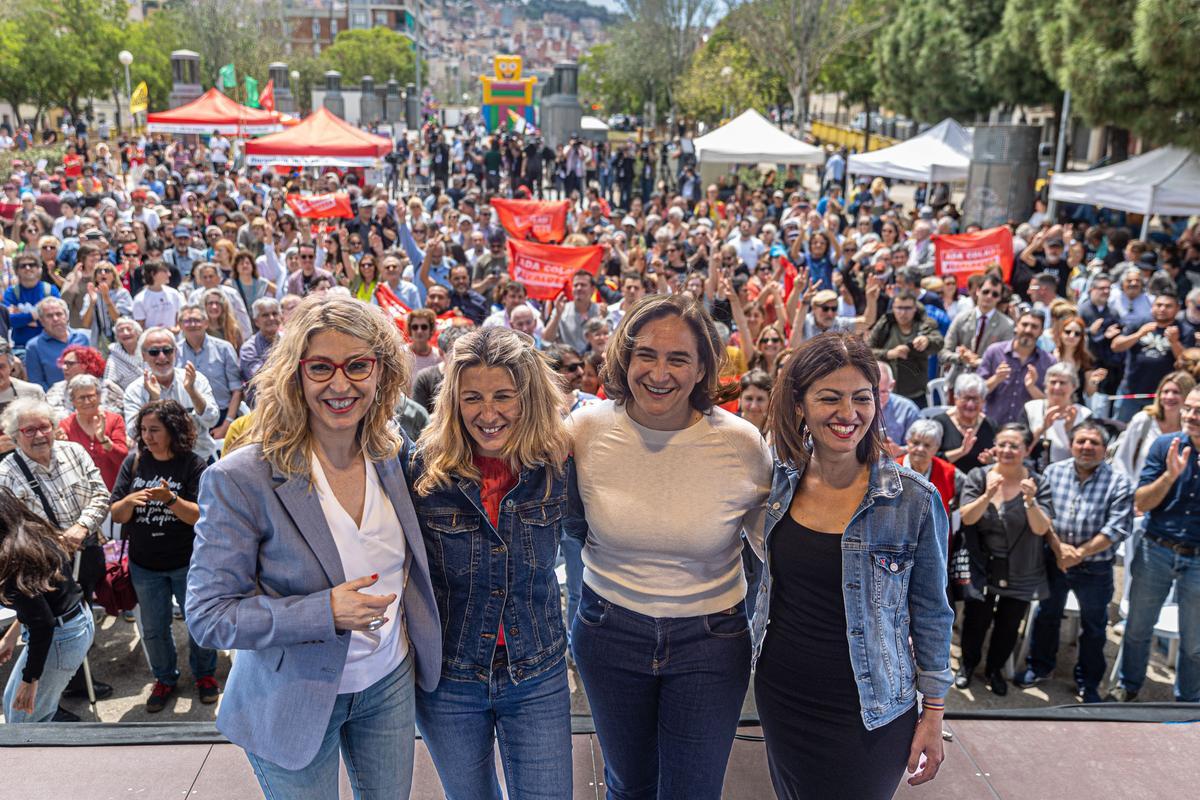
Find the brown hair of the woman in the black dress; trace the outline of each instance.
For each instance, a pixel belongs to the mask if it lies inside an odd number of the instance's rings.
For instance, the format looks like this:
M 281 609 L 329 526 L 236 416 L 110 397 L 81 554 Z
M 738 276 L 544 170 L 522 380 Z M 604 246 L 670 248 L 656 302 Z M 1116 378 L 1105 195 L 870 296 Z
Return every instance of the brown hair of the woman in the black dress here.
M 780 462 L 803 468 L 812 456 L 804 444 L 808 429 L 797 407 L 804 403 L 812 384 L 842 367 L 853 367 L 863 373 L 871 385 L 875 397 L 875 419 L 866 435 L 858 443 L 856 455 L 860 464 L 880 459 L 883 452 L 883 409 L 880 407 L 880 367 L 871 349 L 857 336 L 850 333 L 821 333 L 796 348 L 780 371 L 775 391 L 770 396 L 767 429 L 775 444 Z M 799 417 L 799 419 L 798 419 Z

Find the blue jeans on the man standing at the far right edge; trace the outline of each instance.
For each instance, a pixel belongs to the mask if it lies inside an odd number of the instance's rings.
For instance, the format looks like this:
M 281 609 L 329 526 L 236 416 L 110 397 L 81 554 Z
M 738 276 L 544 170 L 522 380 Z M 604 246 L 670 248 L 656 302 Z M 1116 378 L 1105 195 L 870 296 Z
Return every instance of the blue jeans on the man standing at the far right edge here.
M 1121 685 L 1138 691 L 1146 681 L 1154 622 L 1174 584 L 1180 606 L 1175 699 L 1200 702 L 1200 555 L 1176 555 L 1142 536 L 1129 572 L 1133 584 L 1121 656 Z

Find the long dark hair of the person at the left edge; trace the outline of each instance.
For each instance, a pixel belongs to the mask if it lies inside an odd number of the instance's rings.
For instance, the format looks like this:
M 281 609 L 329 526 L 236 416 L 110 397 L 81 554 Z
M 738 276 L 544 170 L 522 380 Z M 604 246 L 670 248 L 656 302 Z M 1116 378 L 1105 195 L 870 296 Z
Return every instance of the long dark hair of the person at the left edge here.
M 0 489 L 0 597 L 36 597 L 62 579 L 66 553 L 58 531 L 10 489 Z M 16 594 L 13 594 L 16 593 Z

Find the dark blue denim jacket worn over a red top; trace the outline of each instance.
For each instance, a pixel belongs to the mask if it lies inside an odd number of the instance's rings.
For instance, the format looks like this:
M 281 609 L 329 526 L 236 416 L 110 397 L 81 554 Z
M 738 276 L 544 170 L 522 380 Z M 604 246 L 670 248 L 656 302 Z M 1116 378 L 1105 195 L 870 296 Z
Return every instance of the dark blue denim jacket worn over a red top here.
M 420 452 L 407 464 L 414 486 L 424 471 Z M 554 561 L 566 473 L 556 476 L 547 467 L 522 470 L 504 495 L 496 528 L 475 481 L 458 479 L 428 497 L 415 491 L 412 495 L 442 619 L 443 678 L 486 682 L 502 620 L 514 684 L 558 664 L 566 633 Z

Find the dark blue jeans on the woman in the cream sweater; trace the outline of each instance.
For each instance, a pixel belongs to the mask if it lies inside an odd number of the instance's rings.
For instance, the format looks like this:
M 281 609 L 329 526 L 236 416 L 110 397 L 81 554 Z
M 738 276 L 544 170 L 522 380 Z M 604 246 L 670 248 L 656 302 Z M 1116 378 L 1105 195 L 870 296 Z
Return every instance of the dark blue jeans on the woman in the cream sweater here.
M 572 627 L 608 799 L 719 800 L 750 682 L 745 602 L 654 618 L 583 584 Z

